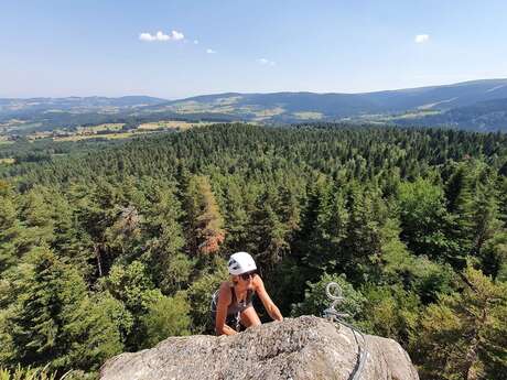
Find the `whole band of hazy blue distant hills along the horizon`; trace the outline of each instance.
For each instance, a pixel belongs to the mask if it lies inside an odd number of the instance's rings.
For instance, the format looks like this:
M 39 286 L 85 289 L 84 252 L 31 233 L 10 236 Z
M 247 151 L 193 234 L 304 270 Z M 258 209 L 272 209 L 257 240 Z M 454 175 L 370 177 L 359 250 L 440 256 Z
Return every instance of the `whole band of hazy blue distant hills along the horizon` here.
M 142 96 L 0 99 L 0 127 L 14 120 L 21 127 L 10 128 L 12 132 L 23 129 L 23 123 L 44 129 L 184 118 L 266 123 L 342 120 L 507 131 L 506 99 L 507 79 L 363 94 L 227 93 L 172 101 Z

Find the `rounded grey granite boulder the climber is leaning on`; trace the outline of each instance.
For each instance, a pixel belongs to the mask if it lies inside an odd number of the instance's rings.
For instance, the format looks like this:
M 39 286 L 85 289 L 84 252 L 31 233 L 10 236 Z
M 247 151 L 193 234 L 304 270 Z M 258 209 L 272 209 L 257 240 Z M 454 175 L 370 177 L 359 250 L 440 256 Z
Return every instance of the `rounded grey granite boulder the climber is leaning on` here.
M 365 358 L 359 366 L 359 348 Z M 359 373 L 360 372 L 360 373 Z M 392 339 L 302 316 L 235 336 L 172 337 L 152 349 L 122 354 L 100 369 L 101 380 L 418 380 Z

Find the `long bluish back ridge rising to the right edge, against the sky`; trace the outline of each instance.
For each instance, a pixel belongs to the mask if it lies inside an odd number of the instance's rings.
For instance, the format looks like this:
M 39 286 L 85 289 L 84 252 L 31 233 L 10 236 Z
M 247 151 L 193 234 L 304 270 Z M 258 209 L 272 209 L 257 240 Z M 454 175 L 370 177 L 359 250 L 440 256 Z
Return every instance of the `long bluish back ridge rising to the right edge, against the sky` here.
M 451 109 L 477 101 L 507 97 L 507 79 L 465 82 L 447 86 L 432 86 L 363 94 L 217 94 L 197 96 L 169 102 L 185 107 L 188 104 L 223 107 L 283 106 L 288 111 L 316 111 L 328 116 L 350 116 L 357 112 L 397 112 L 414 108 Z

